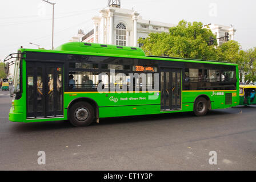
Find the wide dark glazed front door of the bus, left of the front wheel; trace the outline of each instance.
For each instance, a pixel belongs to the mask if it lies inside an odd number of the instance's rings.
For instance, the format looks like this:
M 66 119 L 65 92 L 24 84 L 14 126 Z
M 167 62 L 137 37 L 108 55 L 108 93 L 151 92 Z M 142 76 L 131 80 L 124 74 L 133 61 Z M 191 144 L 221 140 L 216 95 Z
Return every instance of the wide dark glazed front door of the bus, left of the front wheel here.
M 63 64 L 27 62 L 27 118 L 63 116 Z

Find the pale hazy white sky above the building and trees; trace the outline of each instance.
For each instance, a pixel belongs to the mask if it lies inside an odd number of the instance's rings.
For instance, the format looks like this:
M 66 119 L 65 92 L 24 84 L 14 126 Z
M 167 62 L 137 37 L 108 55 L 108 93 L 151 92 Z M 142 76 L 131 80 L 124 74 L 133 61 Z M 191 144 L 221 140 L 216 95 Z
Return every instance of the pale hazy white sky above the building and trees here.
M 69 42 L 81 28 L 93 29 L 94 15 L 107 0 L 50 0 L 56 5 L 54 47 Z M 121 0 L 123 9 L 134 9 L 143 19 L 178 24 L 182 19 L 203 24 L 233 25 L 242 49 L 256 47 L 255 0 Z M 24 48 L 51 49 L 52 6 L 42 0 L 0 1 L 0 60 Z

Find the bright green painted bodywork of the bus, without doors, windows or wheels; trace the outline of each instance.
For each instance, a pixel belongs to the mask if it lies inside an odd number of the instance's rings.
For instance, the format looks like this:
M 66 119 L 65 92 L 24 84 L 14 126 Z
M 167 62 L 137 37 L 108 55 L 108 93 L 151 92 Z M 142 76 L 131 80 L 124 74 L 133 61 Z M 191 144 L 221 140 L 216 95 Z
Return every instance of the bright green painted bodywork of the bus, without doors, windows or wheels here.
M 182 60 L 161 57 L 146 57 L 145 53 L 137 48 L 137 51 L 131 50 L 131 47 L 122 46 L 123 49 L 118 49 L 117 46 L 107 45 L 107 48 L 101 47 L 101 44 L 93 44 L 84 46 L 84 43 L 67 43 L 58 47 L 56 50 L 42 49 L 19 49 L 21 52 L 49 52 L 49 53 L 72 53 L 77 55 L 95 55 L 95 56 L 113 56 L 113 57 L 130 57 L 137 59 L 150 60 L 165 60 L 165 61 L 183 61 L 191 63 L 207 63 L 234 65 L 237 71 L 237 64 L 218 63 L 209 61 L 197 60 Z M 26 57 L 26 54 L 25 54 Z M 63 82 L 64 86 L 64 82 Z M 221 94 L 218 94 L 221 93 Z M 225 93 L 233 93 L 232 104 L 225 104 Z M 66 121 L 67 108 L 70 103 L 78 98 L 90 98 L 95 101 L 99 107 L 99 118 L 107 117 L 123 117 L 129 115 L 146 115 L 146 114 L 162 114 L 162 113 L 177 113 L 183 111 L 193 111 L 194 101 L 198 96 L 207 96 L 211 101 L 211 109 L 223 109 L 227 107 L 237 106 L 239 104 L 239 80 L 237 81 L 237 90 L 198 90 L 198 91 L 182 91 L 181 110 L 161 111 L 161 92 L 147 93 L 79 93 L 65 92 L 63 94 L 63 118 L 26 118 L 26 61 L 22 60 L 22 97 L 19 100 L 14 100 L 11 106 L 9 119 L 13 122 L 41 122 L 41 121 Z M 115 102 L 116 101 L 116 102 Z

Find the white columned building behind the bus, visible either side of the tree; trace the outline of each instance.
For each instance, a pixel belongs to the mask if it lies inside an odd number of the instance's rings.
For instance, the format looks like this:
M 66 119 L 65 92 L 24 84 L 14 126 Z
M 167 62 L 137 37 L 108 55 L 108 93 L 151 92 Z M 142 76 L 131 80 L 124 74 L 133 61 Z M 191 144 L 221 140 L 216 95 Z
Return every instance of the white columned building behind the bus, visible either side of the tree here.
M 109 6 L 99 11 L 98 16 L 93 17 L 94 28 L 87 34 L 78 34 L 70 42 L 91 42 L 101 44 L 114 44 L 117 46 L 141 47 L 138 39 L 145 39 L 151 32 L 169 32 L 169 28 L 175 24 L 155 22 L 142 19 L 137 11 L 121 9 L 121 0 L 108 0 Z M 208 24 L 205 27 L 213 31 L 217 38 L 225 36 L 229 32 L 234 39 L 234 28 Z M 225 40 L 218 40 L 220 45 Z

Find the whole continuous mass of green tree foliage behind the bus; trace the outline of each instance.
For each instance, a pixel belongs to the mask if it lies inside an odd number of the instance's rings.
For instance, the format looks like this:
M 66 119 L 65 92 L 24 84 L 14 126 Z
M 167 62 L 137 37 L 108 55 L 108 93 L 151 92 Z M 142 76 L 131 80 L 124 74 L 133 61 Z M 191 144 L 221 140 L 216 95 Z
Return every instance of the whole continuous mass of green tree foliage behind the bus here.
M 238 64 L 246 72 L 246 81 L 256 81 L 256 48 L 243 51 L 241 45 L 230 40 L 217 47 L 217 41 L 208 46 L 210 36 L 215 39 L 210 29 L 201 22 L 182 20 L 178 26 L 170 28 L 169 33 L 151 33 L 145 40 L 139 39 L 146 55 L 183 57 L 192 59 L 218 60 Z

